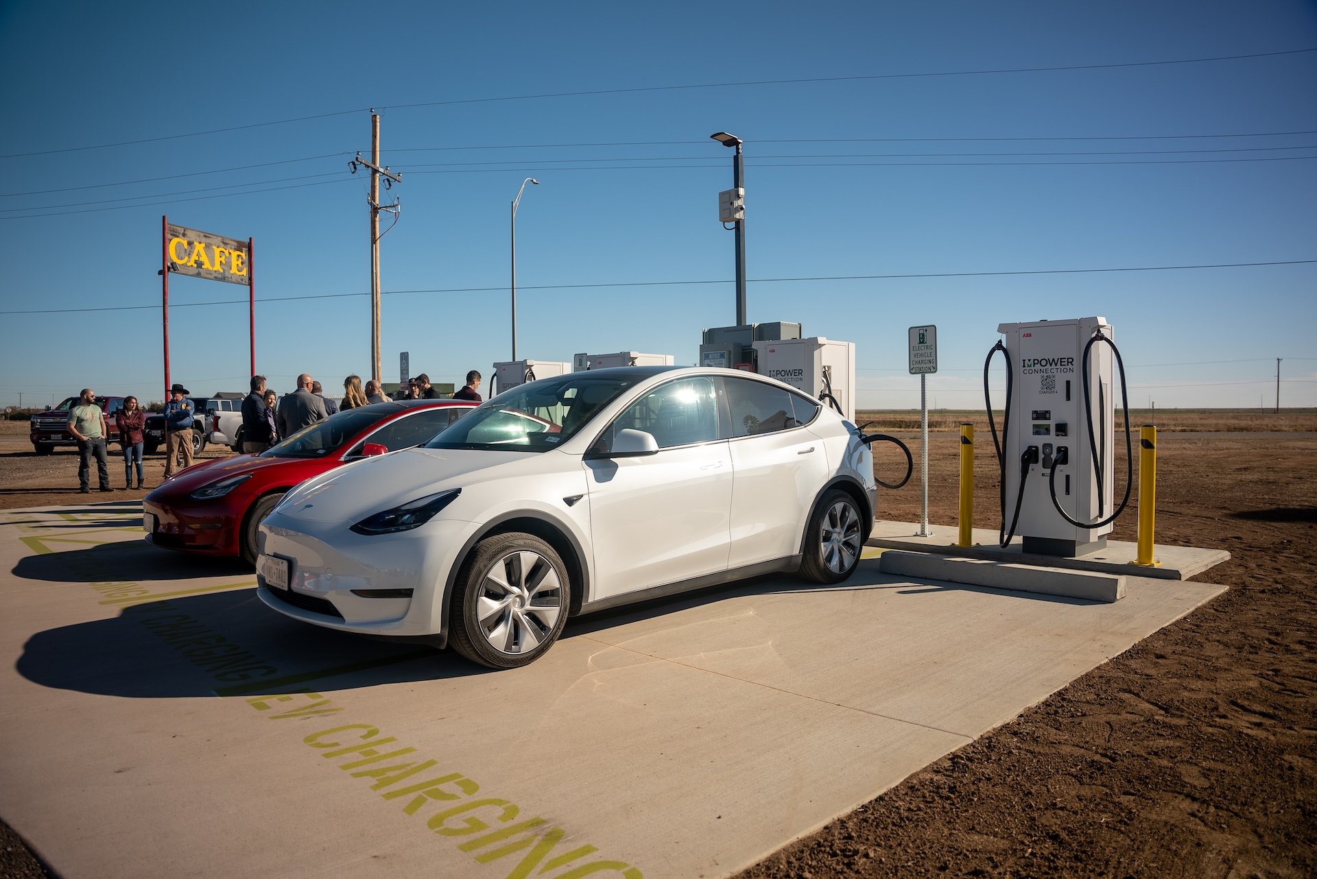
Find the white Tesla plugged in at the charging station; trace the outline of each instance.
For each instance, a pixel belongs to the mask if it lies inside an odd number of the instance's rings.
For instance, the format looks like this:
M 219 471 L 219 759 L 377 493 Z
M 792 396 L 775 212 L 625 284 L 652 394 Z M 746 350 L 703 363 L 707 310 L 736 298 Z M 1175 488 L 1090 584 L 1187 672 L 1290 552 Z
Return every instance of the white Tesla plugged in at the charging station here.
M 258 593 L 511 668 L 569 616 L 776 571 L 844 580 L 876 491 L 859 429 L 781 382 L 572 372 L 288 492 L 261 524 Z

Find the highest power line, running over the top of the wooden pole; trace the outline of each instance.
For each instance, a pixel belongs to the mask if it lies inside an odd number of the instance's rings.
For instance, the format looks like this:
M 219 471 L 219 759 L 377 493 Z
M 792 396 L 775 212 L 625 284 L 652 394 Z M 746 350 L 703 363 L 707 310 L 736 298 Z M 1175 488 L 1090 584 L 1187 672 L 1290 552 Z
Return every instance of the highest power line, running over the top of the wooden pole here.
M 668 92 L 668 91 L 690 91 L 702 88 L 738 88 L 748 86 L 797 86 L 809 83 L 844 83 L 844 82 L 874 82 L 882 79 L 925 79 L 925 78 L 938 78 L 938 76 L 984 76 L 984 75 L 998 75 L 998 74 L 1042 74 L 1042 72 L 1063 72 L 1063 71 L 1079 71 L 1079 70 L 1117 70 L 1123 67 L 1163 67 L 1171 64 L 1201 64 L 1220 61 L 1247 61 L 1252 58 L 1279 58 L 1283 55 L 1301 55 L 1305 53 L 1317 51 L 1317 47 L 1309 49 L 1288 49 L 1281 51 L 1264 51 L 1264 53 L 1251 53 L 1245 55 L 1214 55 L 1205 58 L 1177 58 L 1169 61 L 1137 61 L 1137 62 L 1117 62 L 1106 64 L 1071 64 L 1059 67 L 1002 67 L 1002 68 L 982 68 L 982 70 L 948 70 L 948 71 L 932 71 L 932 72 L 915 72 L 915 74 L 871 74 L 861 76 L 815 76 L 810 79 L 760 79 L 760 80 L 747 80 L 747 82 L 732 82 L 732 83 L 697 83 L 689 86 L 648 86 L 636 88 L 605 88 L 605 89 L 591 89 L 579 92 L 545 92 L 539 95 L 506 95 L 502 97 L 469 97 L 457 99 L 446 101 L 421 101 L 416 104 L 392 104 L 386 105 L 382 109 L 416 109 L 423 107 L 452 107 L 460 104 L 489 104 L 498 101 L 518 101 L 518 100 L 540 100 L 547 97 L 589 97 L 597 95 L 635 95 L 643 92 Z M 367 112 L 369 108 L 357 108 L 349 111 L 336 111 L 332 113 L 317 113 L 313 116 L 298 116 L 294 118 L 273 120 L 269 122 L 250 122 L 248 125 L 233 125 L 229 128 L 216 128 L 205 132 L 190 132 L 187 134 L 165 134 L 161 137 L 146 137 L 136 141 L 119 141 L 115 143 L 96 143 L 91 146 L 71 146 L 63 149 L 53 150 L 38 150 L 33 153 L 11 153 L 9 155 L 0 155 L 0 159 L 18 159 L 30 158 L 36 155 L 54 155 L 59 153 L 78 153 L 84 150 L 101 150 L 116 146 L 136 146 L 140 143 L 155 143 L 159 141 L 176 141 L 188 137 L 204 137 L 207 134 L 223 134 L 225 132 L 241 132 L 253 128 L 267 128 L 271 125 L 287 125 L 291 122 L 306 122 L 317 118 L 331 118 L 335 116 L 348 116 L 350 113 Z

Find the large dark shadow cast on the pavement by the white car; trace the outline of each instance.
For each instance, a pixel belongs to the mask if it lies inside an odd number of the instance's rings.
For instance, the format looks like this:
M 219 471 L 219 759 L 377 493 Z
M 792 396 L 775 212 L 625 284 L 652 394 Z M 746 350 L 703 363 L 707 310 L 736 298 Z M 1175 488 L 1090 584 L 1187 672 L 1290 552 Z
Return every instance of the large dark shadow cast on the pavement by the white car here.
M 356 690 L 489 671 L 452 651 L 288 620 L 254 588 L 150 601 L 40 632 L 14 667 L 42 687 L 126 699 Z

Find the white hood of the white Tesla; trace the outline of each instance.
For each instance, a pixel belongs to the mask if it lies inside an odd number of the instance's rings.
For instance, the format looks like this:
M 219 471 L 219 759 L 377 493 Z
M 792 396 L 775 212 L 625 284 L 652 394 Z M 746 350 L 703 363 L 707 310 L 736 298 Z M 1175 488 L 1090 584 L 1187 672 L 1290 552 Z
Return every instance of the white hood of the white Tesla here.
M 545 455 L 557 454 L 404 449 L 308 479 L 283 499 L 278 511 L 287 518 L 356 522 L 439 491 L 507 478 L 510 471 L 533 467 Z

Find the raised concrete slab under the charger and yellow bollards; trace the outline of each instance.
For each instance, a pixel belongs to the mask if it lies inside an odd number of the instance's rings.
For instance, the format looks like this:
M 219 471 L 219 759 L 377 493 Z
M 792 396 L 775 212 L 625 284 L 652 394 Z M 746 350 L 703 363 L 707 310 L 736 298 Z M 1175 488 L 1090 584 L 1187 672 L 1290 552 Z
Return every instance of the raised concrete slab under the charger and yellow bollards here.
M 1196 546 L 1152 547 L 1154 567 L 1135 565 L 1138 543 L 1129 541 L 1108 541 L 1106 549 L 1088 553 L 1077 558 L 1060 558 L 1025 553 L 1019 538 L 1011 540 L 1005 549 L 998 545 L 1001 537 L 996 529 L 975 528 L 973 546 L 955 546 L 959 530 L 955 525 L 928 525 L 930 534 L 919 537 L 918 522 L 894 522 L 880 518 L 873 524 L 869 546 L 881 549 L 910 550 L 913 553 L 939 553 L 960 558 L 986 558 L 998 562 L 1036 565 L 1042 567 L 1064 567 L 1083 571 L 1105 571 L 1108 574 L 1129 574 L 1152 579 L 1187 580 L 1204 571 L 1230 561 L 1226 550 L 1200 549 Z

